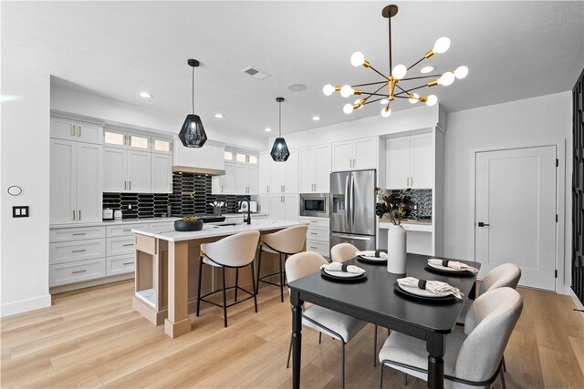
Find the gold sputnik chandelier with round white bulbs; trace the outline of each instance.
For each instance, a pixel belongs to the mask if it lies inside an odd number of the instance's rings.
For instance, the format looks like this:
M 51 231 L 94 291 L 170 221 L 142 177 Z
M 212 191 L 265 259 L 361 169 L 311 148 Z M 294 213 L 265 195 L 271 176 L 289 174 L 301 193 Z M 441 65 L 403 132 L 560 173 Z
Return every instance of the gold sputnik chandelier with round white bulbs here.
M 414 93 L 415 90 L 419 90 L 422 87 L 435 87 L 438 85 L 447 87 L 454 82 L 454 79 L 462 79 L 468 75 L 468 67 L 457 67 L 456 70 L 451 70 L 443 73 L 442 75 L 428 75 L 428 76 L 420 76 L 420 77 L 405 77 L 407 72 L 412 69 L 412 67 L 417 66 L 420 64 L 424 59 L 430 58 L 435 54 L 443 54 L 448 50 L 450 47 L 450 39 L 446 36 L 443 36 L 436 40 L 434 43 L 433 48 L 428 50 L 421 59 L 413 63 L 410 67 L 405 67 L 404 65 L 396 65 L 392 67 L 391 63 L 391 17 L 397 15 L 398 13 L 398 6 L 397 5 L 388 5 L 383 8 L 381 11 L 381 15 L 388 19 L 389 23 L 389 41 L 390 41 L 390 76 L 384 76 L 379 70 L 375 67 L 371 67 L 370 62 L 365 59 L 363 53 L 355 52 L 352 56 L 350 56 L 350 63 L 353 67 L 369 67 L 375 73 L 382 77 L 381 81 L 376 82 L 368 82 L 365 84 L 357 84 L 357 85 L 342 85 L 333 87 L 330 84 L 325 85 L 322 88 L 322 92 L 326 96 L 332 95 L 334 92 L 339 92 L 340 96 L 342 97 L 351 97 L 351 96 L 360 96 L 353 104 L 346 104 L 343 107 L 343 111 L 349 115 L 353 110 L 360 109 L 366 104 L 374 103 L 379 101 L 383 108 L 381 109 L 381 116 L 383 118 L 387 118 L 391 115 L 391 108 L 390 103 L 391 101 L 395 100 L 396 98 L 407 98 L 410 103 L 415 104 L 417 102 L 426 103 L 427 106 L 432 107 L 438 102 L 438 97 L 435 95 L 429 96 L 421 96 L 417 93 Z M 433 68 L 430 69 L 432 71 Z M 437 77 L 437 78 L 436 78 Z M 412 80 L 419 80 L 423 78 L 434 78 L 432 81 L 422 84 L 421 86 L 417 87 L 405 87 L 403 83 L 406 81 Z M 361 87 L 371 87 L 375 89 L 372 92 L 366 92 Z M 383 91 L 387 87 L 387 93 Z M 371 98 L 372 97 L 372 98 Z

